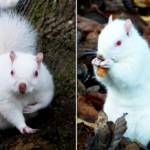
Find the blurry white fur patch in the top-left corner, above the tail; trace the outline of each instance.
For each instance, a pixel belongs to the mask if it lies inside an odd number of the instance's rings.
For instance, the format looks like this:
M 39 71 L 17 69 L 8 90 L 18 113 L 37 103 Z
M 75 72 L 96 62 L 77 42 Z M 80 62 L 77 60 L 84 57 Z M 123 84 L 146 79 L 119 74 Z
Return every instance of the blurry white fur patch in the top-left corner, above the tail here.
M 0 0 L 0 8 L 1 9 L 8 9 L 13 8 L 17 5 L 19 0 Z

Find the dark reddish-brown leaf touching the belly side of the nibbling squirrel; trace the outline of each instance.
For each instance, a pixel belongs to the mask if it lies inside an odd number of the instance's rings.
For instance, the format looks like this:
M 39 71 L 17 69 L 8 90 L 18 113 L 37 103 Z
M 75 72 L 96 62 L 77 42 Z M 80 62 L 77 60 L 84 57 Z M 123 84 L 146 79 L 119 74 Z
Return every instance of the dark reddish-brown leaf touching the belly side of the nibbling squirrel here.
M 106 94 L 101 94 L 99 92 L 90 92 L 85 95 L 86 99 L 91 101 L 92 105 L 96 110 L 100 111 L 103 109 L 103 105 L 106 99 Z

